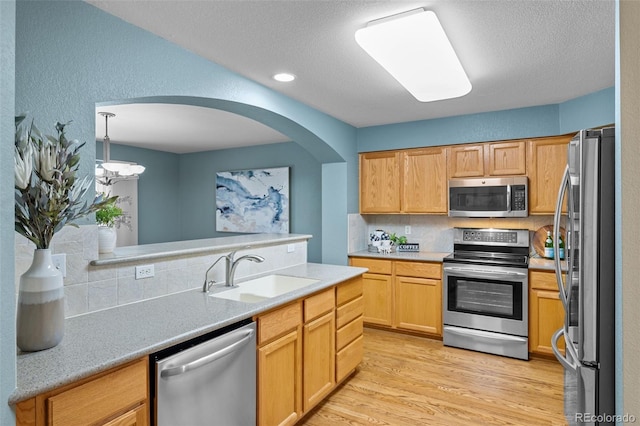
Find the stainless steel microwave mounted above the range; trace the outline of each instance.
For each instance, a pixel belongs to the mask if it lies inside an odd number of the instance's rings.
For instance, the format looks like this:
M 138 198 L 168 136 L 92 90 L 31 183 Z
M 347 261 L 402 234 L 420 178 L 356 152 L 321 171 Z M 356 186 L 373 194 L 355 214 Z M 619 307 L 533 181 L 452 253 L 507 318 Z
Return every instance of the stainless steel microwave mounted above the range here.
M 449 216 L 527 217 L 526 176 L 449 179 Z

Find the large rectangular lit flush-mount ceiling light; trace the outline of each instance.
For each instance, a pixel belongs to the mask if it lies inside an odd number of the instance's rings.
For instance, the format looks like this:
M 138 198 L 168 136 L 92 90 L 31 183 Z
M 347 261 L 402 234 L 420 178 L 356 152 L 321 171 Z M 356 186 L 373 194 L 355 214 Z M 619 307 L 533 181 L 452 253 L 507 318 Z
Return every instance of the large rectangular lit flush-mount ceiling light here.
M 371 21 L 356 41 L 420 102 L 457 98 L 471 83 L 435 13 L 424 9 Z

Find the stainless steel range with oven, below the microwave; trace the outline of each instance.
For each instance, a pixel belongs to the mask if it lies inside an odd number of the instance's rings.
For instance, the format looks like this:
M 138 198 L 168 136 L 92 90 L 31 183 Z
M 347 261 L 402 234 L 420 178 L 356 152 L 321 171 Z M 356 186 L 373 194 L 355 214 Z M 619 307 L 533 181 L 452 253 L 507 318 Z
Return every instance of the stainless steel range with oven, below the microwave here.
M 443 343 L 529 359 L 529 231 L 454 228 L 444 258 Z

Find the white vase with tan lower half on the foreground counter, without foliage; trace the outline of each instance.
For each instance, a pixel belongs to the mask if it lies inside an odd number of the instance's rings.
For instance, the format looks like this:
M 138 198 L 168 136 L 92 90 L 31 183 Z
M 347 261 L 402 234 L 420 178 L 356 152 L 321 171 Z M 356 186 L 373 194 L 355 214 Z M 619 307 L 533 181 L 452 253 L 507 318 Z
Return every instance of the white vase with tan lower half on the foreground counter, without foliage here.
M 25 352 L 56 346 L 64 336 L 64 282 L 50 249 L 36 249 L 20 276 L 16 343 Z

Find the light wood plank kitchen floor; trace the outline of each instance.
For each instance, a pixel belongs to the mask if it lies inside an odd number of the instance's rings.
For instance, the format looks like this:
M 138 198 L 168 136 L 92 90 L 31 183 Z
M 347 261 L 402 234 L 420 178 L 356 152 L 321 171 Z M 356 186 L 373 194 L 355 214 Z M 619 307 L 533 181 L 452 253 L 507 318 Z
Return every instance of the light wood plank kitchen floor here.
M 566 425 L 562 366 L 365 328 L 358 371 L 300 424 Z

